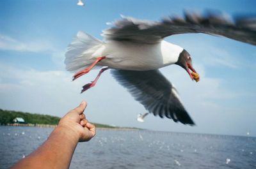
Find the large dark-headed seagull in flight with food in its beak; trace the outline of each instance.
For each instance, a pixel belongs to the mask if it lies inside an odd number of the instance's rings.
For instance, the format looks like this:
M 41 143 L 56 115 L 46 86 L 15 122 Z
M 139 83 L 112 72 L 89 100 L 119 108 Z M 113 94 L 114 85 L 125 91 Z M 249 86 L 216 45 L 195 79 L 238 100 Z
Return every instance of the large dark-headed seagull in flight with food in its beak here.
M 149 113 L 182 124 L 195 123 L 182 105 L 177 90 L 159 68 L 177 64 L 196 82 L 199 75 L 189 53 L 164 38 L 174 34 L 204 33 L 256 45 L 256 18 L 252 17 L 232 20 L 221 13 L 185 12 L 184 17 L 165 17 L 161 21 L 122 16 L 110 24 L 113 27 L 103 31 L 104 41 L 79 31 L 68 45 L 65 64 L 68 71 L 76 73 L 73 80 L 92 68 L 106 66 L 92 83 L 83 86 L 81 92 L 93 87 L 101 73 L 111 69 L 113 77 Z

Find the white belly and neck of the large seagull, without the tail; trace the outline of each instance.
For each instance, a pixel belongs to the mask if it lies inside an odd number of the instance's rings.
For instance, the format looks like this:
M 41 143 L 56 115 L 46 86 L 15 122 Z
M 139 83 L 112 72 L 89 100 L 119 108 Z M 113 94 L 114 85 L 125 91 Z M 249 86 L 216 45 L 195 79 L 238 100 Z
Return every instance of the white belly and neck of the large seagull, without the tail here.
M 182 50 L 164 40 L 155 44 L 108 41 L 102 52 L 106 59 L 100 61 L 99 65 L 116 70 L 156 70 L 177 62 Z

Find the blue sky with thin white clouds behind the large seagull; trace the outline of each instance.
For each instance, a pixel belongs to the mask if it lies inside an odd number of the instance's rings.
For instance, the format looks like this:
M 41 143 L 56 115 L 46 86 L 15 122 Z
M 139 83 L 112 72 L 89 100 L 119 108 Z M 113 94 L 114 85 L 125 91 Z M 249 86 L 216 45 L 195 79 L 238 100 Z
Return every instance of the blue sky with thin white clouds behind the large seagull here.
M 77 31 L 102 40 L 106 22 L 120 15 L 161 20 L 184 10 L 219 10 L 231 16 L 255 15 L 256 1 L 0 1 L 0 108 L 62 117 L 88 102 L 91 122 L 156 131 L 256 136 L 256 47 L 207 34 L 180 34 L 165 40 L 185 48 L 200 75 L 196 83 L 176 65 L 161 68 L 177 88 L 196 123 L 186 126 L 147 112 L 109 71 L 90 90 L 82 86 L 99 70 L 72 82 L 65 70 L 65 51 Z M 230 2 L 232 2 L 230 4 Z

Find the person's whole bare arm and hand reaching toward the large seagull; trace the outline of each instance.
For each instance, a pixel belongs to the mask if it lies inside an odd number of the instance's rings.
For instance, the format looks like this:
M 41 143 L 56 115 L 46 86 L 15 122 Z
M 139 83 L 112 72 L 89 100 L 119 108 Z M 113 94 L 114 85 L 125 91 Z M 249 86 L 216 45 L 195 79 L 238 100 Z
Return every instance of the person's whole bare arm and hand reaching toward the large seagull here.
M 95 126 L 83 114 L 87 103 L 70 110 L 61 118 L 47 140 L 11 168 L 69 168 L 78 142 L 88 142 L 96 134 Z

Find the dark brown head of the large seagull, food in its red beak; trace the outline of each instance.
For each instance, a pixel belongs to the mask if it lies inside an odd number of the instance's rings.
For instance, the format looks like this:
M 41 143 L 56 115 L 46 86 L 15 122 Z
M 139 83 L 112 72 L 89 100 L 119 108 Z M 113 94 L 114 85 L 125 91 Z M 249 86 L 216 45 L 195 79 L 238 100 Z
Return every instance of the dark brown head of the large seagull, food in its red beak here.
M 192 59 L 189 55 L 189 53 L 184 49 L 182 52 L 180 52 L 179 59 L 175 63 L 184 68 L 189 74 L 189 77 L 191 77 L 192 80 L 196 80 L 196 82 L 199 81 L 199 75 L 196 73 L 195 69 L 192 66 Z M 190 70 L 192 72 L 190 72 Z

